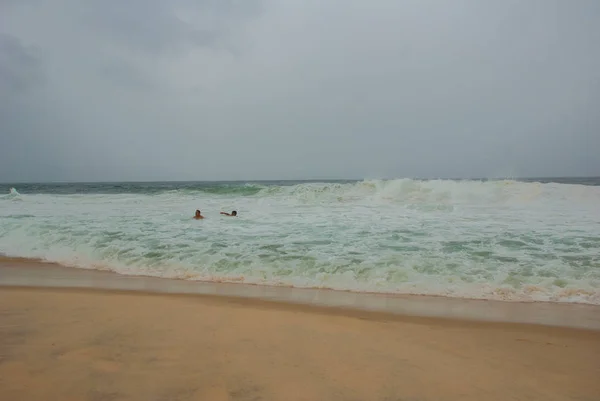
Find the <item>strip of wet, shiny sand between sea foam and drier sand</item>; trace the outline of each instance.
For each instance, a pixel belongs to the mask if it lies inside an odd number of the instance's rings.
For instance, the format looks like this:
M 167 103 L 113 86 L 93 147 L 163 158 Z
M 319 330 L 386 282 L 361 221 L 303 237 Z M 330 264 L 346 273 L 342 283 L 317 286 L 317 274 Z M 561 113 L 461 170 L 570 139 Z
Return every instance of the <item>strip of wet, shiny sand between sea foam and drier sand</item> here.
M 569 327 L 600 331 L 600 306 L 579 303 L 497 301 L 330 289 L 265 286 L 128 276 L 112 271 L 0 257 L 0 288 L 79 289 L 195 295 L 337 309 L 340 313 Z

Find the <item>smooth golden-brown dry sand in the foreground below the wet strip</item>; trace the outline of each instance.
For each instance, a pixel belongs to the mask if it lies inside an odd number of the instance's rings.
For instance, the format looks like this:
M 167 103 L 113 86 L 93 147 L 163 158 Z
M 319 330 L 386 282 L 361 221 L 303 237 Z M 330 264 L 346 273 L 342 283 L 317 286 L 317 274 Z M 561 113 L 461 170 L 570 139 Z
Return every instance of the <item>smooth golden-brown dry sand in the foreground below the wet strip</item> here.
M 597 330 L 92 288 L 0 286 L 0 299 L 6 400 L 600 395 Z

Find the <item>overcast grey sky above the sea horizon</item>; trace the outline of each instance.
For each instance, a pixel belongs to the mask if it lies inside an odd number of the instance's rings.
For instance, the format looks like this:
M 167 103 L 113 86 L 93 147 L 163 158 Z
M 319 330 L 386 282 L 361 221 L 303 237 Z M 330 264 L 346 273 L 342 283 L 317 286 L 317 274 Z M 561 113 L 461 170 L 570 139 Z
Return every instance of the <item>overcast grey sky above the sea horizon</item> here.
M 598 0 L 0 0 L 0 181 L 600 175 Z

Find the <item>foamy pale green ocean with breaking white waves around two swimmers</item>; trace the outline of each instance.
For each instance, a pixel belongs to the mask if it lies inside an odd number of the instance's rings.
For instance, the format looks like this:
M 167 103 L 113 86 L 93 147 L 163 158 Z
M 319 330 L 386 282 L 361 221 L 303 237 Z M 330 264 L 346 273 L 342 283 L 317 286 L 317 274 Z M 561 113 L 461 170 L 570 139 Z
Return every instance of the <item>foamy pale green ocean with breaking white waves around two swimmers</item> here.
M 600 178 L 0 184 L 0 254 L 125 275 L 600 304 Z

